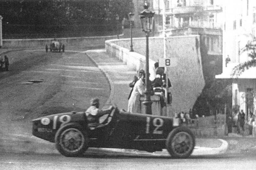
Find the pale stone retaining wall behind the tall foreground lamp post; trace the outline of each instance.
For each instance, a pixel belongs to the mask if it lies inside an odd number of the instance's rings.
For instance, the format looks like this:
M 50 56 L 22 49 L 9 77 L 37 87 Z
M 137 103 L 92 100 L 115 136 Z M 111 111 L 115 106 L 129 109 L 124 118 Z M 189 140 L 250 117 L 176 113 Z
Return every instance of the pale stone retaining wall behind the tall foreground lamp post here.
M 145 38 L 134 38 L 134 52 L 130 52 L 130 39 L 108 40 L 106 51 L 108 55 L 123 60 L 132 70 L 144 69 L 145 43 Z M 176 66 L 168 68 L 168 77 L 172 83 L 172 106 L 167 116 L 188 112 L 204 88 L 199 44 L 199 35 L 167 38 L 167 58 L 177 61 Z M 155 78 L 154 63 L 160 58 L 163 58 L 163 37 L 149 37 L 150 80 Z

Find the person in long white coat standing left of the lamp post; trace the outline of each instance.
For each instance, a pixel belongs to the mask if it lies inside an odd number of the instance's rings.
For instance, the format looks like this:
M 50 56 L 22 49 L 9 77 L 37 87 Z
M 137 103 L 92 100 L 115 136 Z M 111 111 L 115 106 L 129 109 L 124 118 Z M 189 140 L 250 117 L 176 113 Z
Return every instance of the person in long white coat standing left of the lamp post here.
M 144 96 L 145 73 L 140 74 L 140 79 L 134 84 L 131 97 L 128 102 L 127 112 L 141 113 L 140 97 Z

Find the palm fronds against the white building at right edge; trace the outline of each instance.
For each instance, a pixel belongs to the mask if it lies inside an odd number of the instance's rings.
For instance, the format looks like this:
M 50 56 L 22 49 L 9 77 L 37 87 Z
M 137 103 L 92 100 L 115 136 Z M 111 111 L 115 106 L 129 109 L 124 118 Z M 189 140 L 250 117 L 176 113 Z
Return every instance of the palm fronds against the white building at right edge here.
M 253 38 L 252 41 L 248 41 L 247 44 L 243 49 L 240 50 L 240 54 L 247 52 L 247 55 L 252 58 L 249 61 L 246 61 L 244 63 L 240 63 L 239 65 L 235 66 L 232 70 L 232 76 L 239 76 L 241 73 L 243 73 L 245 70 L 256 67 L 256 39 Z

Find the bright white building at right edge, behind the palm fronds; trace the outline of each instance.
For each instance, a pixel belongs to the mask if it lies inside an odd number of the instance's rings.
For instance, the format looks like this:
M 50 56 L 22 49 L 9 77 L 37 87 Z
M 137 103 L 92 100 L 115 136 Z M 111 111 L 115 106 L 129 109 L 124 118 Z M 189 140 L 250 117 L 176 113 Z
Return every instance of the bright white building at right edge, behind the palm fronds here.
M 256 68 L 249 68 L 240 75 L 232 75 L 232 70 L 238 64 L 251 60 L 246 51 L 241 53 L 241 49 L 256 36 L 256 1 L 233 0 L 230 4 L 225 0 L 223 15 L 223 72 L 215 78 L 232 81 L 232 107 L 244 110 L 246 122 L 250 112 L 256 113 Z M 230 61 L 226 66 L 227 56 Z

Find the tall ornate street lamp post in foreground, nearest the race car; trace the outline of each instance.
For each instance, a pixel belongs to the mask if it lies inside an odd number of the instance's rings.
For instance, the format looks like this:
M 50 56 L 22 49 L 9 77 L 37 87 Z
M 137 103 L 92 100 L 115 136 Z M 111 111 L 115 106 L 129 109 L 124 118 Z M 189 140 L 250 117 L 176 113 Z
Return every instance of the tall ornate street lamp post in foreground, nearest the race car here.
M 142 25 L 142 31 L 146 34 L 146 88 L 145 88 L 145 100 L 143 101 L 143 104 L 145 105 L 146 114 L 152 114 L 152 108 L 151 104 L 152 101 L 150 99 L 150 90 L 151 90 L 151 84 L 149 82 L 149 50 L 148 50 L 148 36 L 149 33 L 152 30 L 152 24 L 153 24 L 153 17 L 155 12 L 151 12 L 148 10 L 149 4 L 147 1 L 145 1 L 144 5 L 144 11 L 142 11 L 139 16 L 141 20 Z

